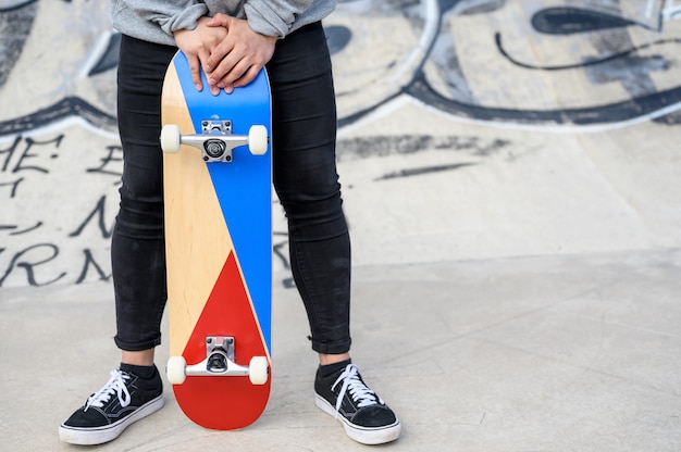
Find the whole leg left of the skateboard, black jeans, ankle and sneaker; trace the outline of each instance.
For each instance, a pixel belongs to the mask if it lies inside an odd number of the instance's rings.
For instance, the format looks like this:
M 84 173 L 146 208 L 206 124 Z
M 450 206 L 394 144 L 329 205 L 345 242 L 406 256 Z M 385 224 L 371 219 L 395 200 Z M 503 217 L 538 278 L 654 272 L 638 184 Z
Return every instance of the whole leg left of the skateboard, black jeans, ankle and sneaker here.
M 111 247 L 121 368 L 112 371 L 109 381 L 60 426 L 65 442 L 111 441 L 163 406 L 163 384 L 153 366 L 165 305 L 159 96 L 174 51 L 122 39 L 119 128 L 124 170 Z

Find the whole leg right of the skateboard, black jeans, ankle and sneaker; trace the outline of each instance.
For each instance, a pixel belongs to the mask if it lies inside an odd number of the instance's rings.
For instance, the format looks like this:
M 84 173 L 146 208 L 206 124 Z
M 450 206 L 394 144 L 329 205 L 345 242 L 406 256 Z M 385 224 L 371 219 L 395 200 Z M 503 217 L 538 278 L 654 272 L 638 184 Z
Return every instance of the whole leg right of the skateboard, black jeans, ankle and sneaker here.
M 290 266 L 320 368 L 315 403 L 367 444 L 397 439 L 400 423 L 350 363 L 350 240 L 336 173 L 336 110 L 321 24 L 277 43 L 272 81 L 274 186 L 286 211 Z

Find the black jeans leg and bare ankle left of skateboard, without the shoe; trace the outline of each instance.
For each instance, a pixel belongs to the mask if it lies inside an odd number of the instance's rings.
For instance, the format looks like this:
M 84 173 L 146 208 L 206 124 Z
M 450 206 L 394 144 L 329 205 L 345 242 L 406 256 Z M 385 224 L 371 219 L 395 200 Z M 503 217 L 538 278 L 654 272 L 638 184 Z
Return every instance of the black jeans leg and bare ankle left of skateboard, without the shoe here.
M 111 250 L 115 343 L 127 352 L 127 360 L 147 365 L 152 364 L 148 362 L 149 350 L 161 341 L 160 323 L 166 298 L 159 98 L 174 51 L 172 47 L 124 37 L 119 64 L 124 170 Z M 146 357 L 136 359 L 138 352 Z

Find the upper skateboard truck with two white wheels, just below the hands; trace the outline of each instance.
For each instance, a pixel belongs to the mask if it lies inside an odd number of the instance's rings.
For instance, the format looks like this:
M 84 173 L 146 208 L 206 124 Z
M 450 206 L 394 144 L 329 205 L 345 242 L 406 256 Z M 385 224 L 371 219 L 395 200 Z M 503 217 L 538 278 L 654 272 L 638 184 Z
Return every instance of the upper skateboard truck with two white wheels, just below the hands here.
M 179 127 L 168 124 L 161 129 L 161 149 L 165 153 L 179 152 L 179 146 L 186 145 L 199 149 L 203 160 L 210 162 L 232 162 L 232 150 L 248 145 L 253 155 L 268 152 L 268 129 L 264 126 L 251 126 L 248 135 L 233 135 L 232 121 L 210 118 L 201 121 L 201 134 L 182 135 Z

